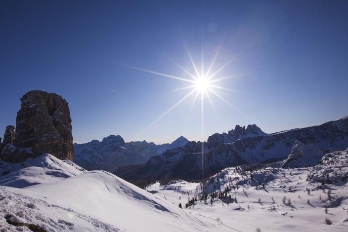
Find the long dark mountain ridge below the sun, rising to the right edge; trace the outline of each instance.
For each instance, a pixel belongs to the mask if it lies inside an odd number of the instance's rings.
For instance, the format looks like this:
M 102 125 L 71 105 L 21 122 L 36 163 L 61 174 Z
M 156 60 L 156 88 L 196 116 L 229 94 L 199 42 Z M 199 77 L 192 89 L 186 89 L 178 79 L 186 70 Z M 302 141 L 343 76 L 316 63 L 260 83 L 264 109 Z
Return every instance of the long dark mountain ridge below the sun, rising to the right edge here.
M 115 174 L 137 183 L 140 178 L 202 179 L 233 165 L 286 159 L 296 140 L 306 145 L 313 144 L 319 149 L 345 148 L 348 144 L 348 117 L 320 126 L 246 137 L 228 143 L 211 140 L 210 137 L 204 143 L 203 156 L 201 143 L 189 142 L 185 147 L 152 157 L 143 165 L 119 168 Z

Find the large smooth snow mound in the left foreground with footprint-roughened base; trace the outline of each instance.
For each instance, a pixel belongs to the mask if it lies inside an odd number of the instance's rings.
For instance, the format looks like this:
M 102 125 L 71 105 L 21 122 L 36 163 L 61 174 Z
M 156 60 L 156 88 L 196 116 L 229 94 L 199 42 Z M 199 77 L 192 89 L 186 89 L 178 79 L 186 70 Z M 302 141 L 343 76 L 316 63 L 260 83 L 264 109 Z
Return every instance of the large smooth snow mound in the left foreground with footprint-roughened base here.
M 90 171 L 26 188 L 3 187 L 4 219 L 49 231 L 210 231 L 214 220 L 191 214 L 106 171 Z M 9 217 L 9 216 L 8 216 Z

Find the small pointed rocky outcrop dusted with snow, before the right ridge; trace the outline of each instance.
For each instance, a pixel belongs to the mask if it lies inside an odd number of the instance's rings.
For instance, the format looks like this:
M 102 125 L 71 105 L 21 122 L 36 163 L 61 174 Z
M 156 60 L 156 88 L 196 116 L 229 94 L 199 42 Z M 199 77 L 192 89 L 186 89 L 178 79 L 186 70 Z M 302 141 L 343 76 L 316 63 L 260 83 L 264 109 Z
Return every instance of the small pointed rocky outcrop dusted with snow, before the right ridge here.
M 282 168 L 304 168 L 317 165 L 324 152 L 316 146 L 305 145 L 300 141 L 296 141 L 291 148 L 288 158 L 283 162 Z

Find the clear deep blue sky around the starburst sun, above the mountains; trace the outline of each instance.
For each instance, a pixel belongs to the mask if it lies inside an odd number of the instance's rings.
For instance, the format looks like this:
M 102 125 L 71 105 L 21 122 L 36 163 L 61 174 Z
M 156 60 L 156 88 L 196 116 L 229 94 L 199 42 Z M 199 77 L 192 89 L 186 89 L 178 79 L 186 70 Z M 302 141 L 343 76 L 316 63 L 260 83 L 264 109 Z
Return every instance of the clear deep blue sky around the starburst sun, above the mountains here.
M 197 66 L 203 47 L 205 67 L 222 45 L 213 71 L 234 58 L 219 76 L 242 73 L 218 83 L 237 90 L 218 93 L 242 113 L 210 94 L 204 139 L 236 124 L 271 133 L 348 114 L 347 1 L 1 1 L 0 137 L 20 97 L 40 89 L 70 103 L 75 142 L 200 140 L 193 95 L 147 128 L 188 83 L 124 66 L 190 78 L 168 59 L 194 73 L 184 43 Z

